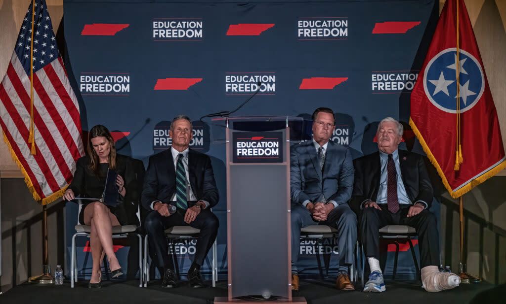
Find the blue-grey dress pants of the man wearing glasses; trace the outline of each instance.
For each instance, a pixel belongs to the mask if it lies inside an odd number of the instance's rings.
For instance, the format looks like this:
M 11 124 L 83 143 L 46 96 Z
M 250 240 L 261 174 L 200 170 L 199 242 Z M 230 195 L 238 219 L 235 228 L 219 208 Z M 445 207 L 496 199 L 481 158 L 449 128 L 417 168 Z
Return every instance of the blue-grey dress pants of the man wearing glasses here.
M 328 225 L 338 229 L 339 265 L 351 265 L 357 242 L 357 216 L 348 204 L 341 204 L 330 211 L 327 219 L 313 220 L 311 212 L 302 204 L 291 204 L 291 259 L 297 264 L 301 247 L 301 228 L 310 225 Z

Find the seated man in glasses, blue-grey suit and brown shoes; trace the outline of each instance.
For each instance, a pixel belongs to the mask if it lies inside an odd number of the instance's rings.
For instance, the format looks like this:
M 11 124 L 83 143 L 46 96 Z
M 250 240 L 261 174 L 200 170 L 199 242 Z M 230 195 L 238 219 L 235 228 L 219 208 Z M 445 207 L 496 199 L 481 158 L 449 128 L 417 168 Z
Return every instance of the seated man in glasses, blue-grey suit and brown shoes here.
M 333 111 L 317 108 L 312 118 L 313 139 L 290 151 L 291 289 L 299 290 L 301 228 L 322 224 L 339 230 L 336 287 L 354 290 L 348 269 L 357 241 L 357 217 L 347 204 L 353 190 L 353 159 L 349 148 L 330 140 L 335 128 Z

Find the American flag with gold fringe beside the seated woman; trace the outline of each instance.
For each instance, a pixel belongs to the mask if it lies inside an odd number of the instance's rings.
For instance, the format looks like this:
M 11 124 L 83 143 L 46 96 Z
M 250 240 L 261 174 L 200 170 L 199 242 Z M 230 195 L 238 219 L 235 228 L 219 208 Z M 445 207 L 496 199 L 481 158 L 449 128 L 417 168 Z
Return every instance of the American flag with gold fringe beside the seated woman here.
M 28 142 L 32 86 L 35 155 L 30 152 L 32 144 Z M 84 155 L 84 149 L 79 105 L 59 55 L 44 0 L 30 3 L 0 84 L 0 125 L 4 141 L 34 199 L 45 205 L 61 197 L 72 180 L 75 161 Z

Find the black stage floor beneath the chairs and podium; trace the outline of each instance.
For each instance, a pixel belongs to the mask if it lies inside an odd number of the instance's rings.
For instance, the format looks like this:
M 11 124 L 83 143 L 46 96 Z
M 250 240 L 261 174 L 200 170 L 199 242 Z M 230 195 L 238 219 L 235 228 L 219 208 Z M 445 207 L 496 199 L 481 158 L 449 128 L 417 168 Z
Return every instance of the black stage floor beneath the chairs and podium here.
M 89 290 L 86 281 L 79 281 L 75 288 L 70 282 L 63 286 L 23 284 L 0 295 L 0 303 L 47 303 L 47 304 L 112 304 L 112 303 L 188 303 L 210 304 L 215 296 L 227 296 L 226 281 L 217 287 L 193 289 L 184 281 L 177 288 L 161 288 L 159 281 L 152 281 L 148 288 L 140 288 L 139 281 L 104 281 L 101 289 Z M 293 296 L 304 296 L 309 304 L 446 304 L 446 303 L 504 303 L 506 284 L 461 284 L 449 291 L 430 293 L 415 281 L 387 281 L 387 291 L 365 293 L 340 291 L 333 281 L 302 280 L 300 291 Z

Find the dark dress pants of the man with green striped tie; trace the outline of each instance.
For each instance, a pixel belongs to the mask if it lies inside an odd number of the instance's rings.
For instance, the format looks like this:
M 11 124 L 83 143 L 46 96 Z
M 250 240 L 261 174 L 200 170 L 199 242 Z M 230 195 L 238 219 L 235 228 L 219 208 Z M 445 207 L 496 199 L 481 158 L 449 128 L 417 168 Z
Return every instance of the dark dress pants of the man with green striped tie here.
M 172 226 L 192 226 L 200 229 L 200 235 L 195 245 L 194 263 L 202 265 L 209 249 L 218 234 L 218 218 L 208 208 L 202 210 L 193 222 L 184 222 L 185 210 L 180 210 L 170 216 L 161 216 L 157 211 L 151 211 L 146 217 L 145 228 L 149 238 L 149 255 L 157 267 L 174 270 L 174 263 L 168 256 L 168 244 L 165 229 Z

